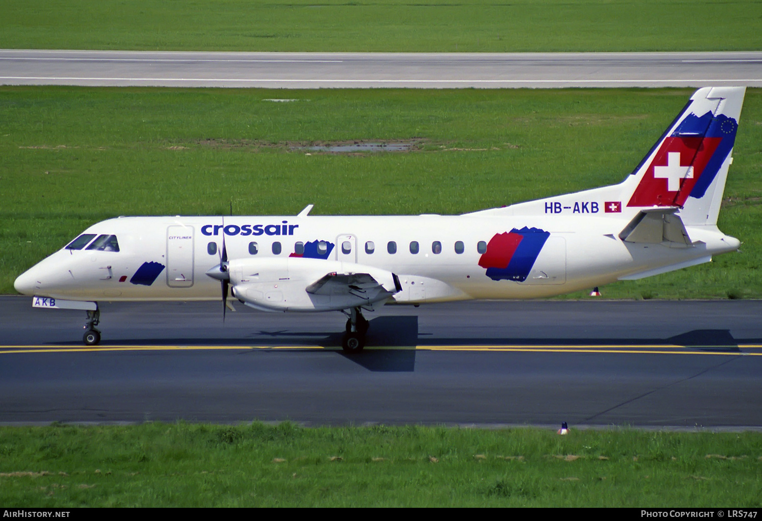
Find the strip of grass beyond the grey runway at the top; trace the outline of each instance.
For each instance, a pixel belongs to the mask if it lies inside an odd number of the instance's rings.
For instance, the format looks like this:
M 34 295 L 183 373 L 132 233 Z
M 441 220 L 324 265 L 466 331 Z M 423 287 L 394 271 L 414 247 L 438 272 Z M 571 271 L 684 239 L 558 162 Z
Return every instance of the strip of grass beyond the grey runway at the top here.
M 760 50 L 762 12 L 757 0 L 3 0 L 0 48 Z

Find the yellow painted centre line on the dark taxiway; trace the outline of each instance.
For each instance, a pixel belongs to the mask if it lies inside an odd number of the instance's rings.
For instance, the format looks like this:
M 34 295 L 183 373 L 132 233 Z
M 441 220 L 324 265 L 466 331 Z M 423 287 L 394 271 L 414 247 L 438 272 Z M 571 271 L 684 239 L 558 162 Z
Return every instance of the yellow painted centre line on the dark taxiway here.
M 608 344 L 608 345 L 461 345 L 461 346 L 410 346 L 410 347 L 367 347 L 366 350 L 418 350 L 418 351 L 514 351 L 523 353 L 652 353 L 652 354 L 704 354 L 732 356 L 762 356 L 762 352 L 721 351 L 722 348 L 738 347 L 760 349 L 762 345 L 741 344 L 738 346 L 680 346 L 673 344 Z M 703 350 L 705 349 L 705 350 Z M 708 350 L 714 349 L 714 350 Z M 98 346 L 98 347 L 53 347 L 0 345 L 0 354 L 11 353 L 97 353 L 101 351 L 211 351 L 211 350 L 341 350 L 339 347 L 322 346 Z

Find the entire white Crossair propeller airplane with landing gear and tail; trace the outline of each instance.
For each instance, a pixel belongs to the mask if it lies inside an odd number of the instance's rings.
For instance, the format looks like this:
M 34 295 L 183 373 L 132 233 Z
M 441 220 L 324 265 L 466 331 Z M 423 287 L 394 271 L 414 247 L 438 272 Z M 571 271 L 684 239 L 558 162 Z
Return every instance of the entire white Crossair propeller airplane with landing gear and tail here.
M 533 299 L 712 260 L 738 239 L 717 228 L 745 88 L 693 94 L 620 183 L 461 216 L 120 217 L 98 222 L 15 281 L 35 307 L 98 300 L 227 299 L 268 312 L 363 311 L 386 303 Z M 221 288 L 220 288 L 221 286 Z

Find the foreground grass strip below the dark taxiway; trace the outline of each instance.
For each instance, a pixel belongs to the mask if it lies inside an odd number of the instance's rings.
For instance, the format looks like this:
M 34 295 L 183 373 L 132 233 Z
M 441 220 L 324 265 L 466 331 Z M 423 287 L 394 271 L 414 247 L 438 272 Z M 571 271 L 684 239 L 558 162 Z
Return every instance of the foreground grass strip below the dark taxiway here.
M 762 507 L 762 434 L 0 427 L 5 507 Z

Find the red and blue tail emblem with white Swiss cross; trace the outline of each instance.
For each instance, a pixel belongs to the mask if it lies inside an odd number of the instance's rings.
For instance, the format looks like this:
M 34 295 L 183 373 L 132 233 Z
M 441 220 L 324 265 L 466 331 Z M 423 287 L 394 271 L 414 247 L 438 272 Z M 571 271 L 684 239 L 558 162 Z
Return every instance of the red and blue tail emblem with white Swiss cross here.
M 700 199 L 728 157 L 738 123 L 711 111 L 690 113 L 664 138 L 627 206 L 684 206 Z

